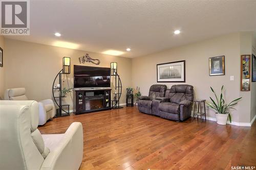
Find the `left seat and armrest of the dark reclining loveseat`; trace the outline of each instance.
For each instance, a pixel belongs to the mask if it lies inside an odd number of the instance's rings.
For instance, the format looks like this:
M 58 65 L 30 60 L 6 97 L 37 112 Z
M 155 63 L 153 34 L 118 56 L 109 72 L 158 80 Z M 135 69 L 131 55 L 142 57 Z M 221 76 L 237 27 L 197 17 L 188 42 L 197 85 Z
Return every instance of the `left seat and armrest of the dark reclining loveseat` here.
M 167 86 L 162 84 L 154 84 L 150 87 L 148 96 L 140 96 L 138 101 L 139 111 L 152 114 L 152 103 L 158 97 L 164 97 Z

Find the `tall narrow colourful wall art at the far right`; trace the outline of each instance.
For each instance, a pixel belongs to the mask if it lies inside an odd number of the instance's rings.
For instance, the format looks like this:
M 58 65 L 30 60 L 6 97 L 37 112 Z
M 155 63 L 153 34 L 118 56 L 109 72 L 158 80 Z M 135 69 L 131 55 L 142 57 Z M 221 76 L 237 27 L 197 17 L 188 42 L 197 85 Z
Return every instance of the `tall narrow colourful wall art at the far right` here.
M 250 91 L 251 55 L 241 55 L 241 91 Z

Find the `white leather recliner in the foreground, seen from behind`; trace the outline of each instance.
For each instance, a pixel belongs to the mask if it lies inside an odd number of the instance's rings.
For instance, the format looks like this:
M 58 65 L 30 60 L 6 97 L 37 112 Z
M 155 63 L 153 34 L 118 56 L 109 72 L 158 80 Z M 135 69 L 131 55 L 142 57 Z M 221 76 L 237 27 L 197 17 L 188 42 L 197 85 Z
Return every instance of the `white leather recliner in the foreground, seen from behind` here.
M 64 134 L 41 135 L 38 103 L 0 101 L 0 169 L 79 169 L 83 156 L 81 123 Z

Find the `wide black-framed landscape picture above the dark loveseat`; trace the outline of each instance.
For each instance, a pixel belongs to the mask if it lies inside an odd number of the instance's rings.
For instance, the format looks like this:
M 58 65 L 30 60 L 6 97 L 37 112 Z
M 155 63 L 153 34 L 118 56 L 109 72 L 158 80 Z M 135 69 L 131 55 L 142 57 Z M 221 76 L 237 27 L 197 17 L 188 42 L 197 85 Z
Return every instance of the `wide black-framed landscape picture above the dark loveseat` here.
M 185 60 L 157 64 L 157 82 L 185 82 Z

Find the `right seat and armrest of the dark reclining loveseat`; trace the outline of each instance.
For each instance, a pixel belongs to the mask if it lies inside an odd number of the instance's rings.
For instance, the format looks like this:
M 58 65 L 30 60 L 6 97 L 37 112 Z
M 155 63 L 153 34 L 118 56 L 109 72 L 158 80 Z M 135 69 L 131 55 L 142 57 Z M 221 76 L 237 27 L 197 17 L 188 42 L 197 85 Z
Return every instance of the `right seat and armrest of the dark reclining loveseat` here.
M 194 100 L 194 89 L 191 85 L 173 85 L 168 95 L 168 102 L 159 103 L 160 116 L 167 119 L 182 121 L 191 116 Z

